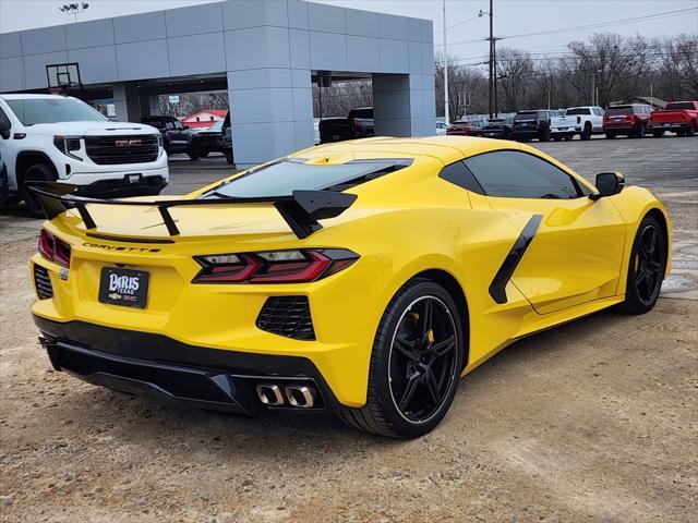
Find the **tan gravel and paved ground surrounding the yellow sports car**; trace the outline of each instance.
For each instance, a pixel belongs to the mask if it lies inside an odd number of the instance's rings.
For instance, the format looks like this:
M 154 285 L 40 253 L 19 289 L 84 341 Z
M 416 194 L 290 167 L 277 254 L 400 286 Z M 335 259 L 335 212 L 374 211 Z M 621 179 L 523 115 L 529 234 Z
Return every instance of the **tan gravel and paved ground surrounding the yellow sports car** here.
M 51 372 L 27 311 L 39 222 L 0 214 L 0 521 L 695 521 L 698 138 L 541 148 L 653 188 L 674 219 L 675 276 L 648 315 L 600 313 L 508 348 L 408 442 Z M 171 191 L 226 169 L 178 162 Z

